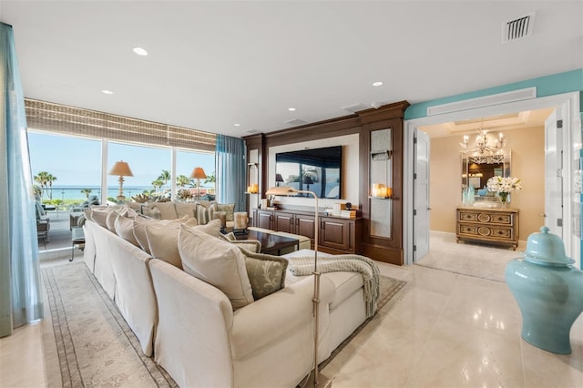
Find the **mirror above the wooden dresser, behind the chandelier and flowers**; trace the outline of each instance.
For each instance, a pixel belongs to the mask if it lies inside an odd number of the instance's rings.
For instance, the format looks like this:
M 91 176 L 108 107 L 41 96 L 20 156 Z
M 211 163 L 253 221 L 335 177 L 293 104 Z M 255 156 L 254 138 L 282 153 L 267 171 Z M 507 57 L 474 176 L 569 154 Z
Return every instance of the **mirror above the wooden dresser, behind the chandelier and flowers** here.
M 486 190 L 488 179 L 496 176 L 510 176 L 511 150 L 502 148 L 494 156 L 473 155 L 462 152 L 462 197 L 470 185 L 474 188 L 476 198 L 493 196 Z

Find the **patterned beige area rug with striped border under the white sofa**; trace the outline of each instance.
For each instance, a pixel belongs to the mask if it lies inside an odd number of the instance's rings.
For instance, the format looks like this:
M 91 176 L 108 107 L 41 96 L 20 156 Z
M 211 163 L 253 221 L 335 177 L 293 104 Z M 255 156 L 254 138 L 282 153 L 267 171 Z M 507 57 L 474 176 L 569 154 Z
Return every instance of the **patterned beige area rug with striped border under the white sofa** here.
M 50 309 L 42 329 L 49 387 L 177 386 L 141 352 L 138 339 L 85 263 L 44 267 L 42 274 Z M 374 322 L 404 296 L 406 284 L 381 276 L 377 313 L 322 362 L 323 373 L 333 376 L 342 368 L 375 330 Z

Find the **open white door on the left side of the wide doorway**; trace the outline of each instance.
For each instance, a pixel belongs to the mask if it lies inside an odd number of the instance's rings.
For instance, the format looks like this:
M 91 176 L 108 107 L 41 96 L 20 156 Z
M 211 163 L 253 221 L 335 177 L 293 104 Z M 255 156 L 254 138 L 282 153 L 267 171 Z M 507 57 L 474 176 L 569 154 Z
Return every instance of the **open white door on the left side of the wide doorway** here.
M 414 132 L 413 192 L 413 261 L 418 261 L 429 251 L 429 136 L 419 129 Z

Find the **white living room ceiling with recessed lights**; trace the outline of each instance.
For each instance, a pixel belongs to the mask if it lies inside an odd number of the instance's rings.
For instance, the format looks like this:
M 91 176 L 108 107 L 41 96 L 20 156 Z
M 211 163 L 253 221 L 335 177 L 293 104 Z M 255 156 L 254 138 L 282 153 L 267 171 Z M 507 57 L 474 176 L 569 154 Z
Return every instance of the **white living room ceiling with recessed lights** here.
M 0 21 L 26 97 L 233 137 L 583 66 L 580 0 L 0 0 Z

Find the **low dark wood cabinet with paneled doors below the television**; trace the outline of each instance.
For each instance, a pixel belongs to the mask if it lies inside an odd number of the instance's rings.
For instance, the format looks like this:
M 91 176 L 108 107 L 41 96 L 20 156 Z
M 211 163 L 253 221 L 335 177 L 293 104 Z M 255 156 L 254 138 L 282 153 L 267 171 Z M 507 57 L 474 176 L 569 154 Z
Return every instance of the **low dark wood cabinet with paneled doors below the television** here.
M 289 212 L 285 210 L 257 209 L 256 225 L 259 228 L 300 234 L 315 238 L 315 216 L 308 212 Z M 319 216 L 318 250 L 332 254 L 360 253 L 362 219 L 343 219 L 332 216 Z

